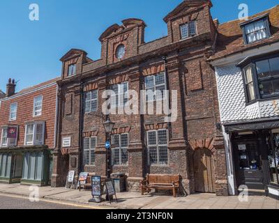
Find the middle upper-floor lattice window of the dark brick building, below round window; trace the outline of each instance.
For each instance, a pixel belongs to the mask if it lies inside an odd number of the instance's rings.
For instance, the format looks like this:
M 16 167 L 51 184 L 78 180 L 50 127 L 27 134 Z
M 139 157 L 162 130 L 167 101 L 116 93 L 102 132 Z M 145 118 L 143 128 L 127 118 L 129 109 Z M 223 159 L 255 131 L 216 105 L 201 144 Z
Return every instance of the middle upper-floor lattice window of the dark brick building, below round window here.
M 110 86 L 110 90 L 114 92 L 110 95 L 111 107 L 124 107 L 128 102 L 128 82 L 114 84 Z

